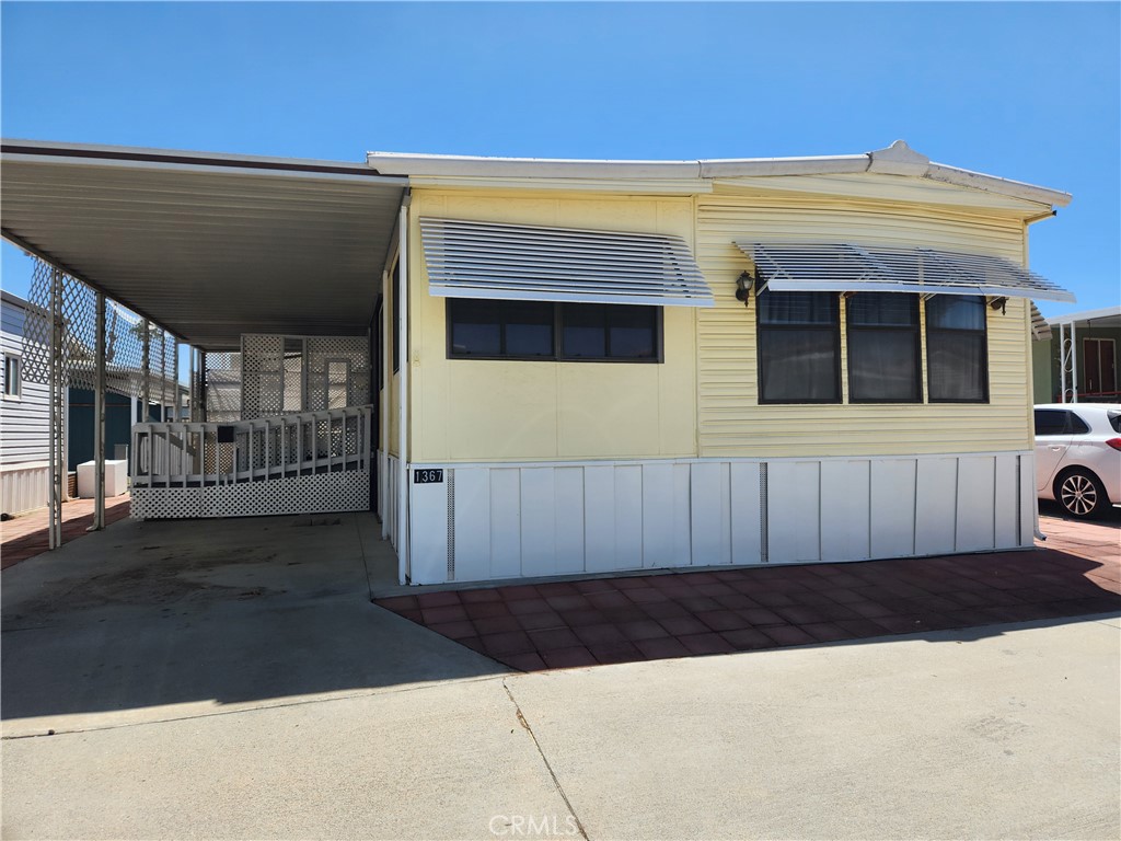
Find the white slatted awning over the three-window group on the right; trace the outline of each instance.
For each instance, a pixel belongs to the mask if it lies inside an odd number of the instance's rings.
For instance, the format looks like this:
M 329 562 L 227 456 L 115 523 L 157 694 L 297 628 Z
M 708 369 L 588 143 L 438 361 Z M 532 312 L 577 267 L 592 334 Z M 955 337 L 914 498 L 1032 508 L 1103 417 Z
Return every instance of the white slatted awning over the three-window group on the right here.
M 1074 301 L 1074 295 L 1011 260 L 929 248 L 852 243 L 747 242 L 760 283 L 775 292 L 910 292 Z

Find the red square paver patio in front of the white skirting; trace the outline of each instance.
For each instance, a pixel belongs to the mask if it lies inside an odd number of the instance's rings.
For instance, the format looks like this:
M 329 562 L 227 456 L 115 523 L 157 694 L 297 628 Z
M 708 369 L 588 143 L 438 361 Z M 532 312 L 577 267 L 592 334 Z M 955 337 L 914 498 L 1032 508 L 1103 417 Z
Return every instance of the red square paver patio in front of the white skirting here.
M 1084 525 L 1053 527 L 1036 552 L 526 583 L 377 603 L 525 672 L 1121 610 L 1118 527 L 1091 524 L 1102 533 L 1086 538 Z

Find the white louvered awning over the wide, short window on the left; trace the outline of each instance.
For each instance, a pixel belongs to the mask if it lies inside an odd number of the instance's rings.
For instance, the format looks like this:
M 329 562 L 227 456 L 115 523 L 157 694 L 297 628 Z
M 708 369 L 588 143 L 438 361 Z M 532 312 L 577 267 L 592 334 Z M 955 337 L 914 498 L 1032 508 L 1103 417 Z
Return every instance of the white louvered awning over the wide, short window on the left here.
M 421 218 L 420 239 L 441 297 L 713 305 L 680 237 Z

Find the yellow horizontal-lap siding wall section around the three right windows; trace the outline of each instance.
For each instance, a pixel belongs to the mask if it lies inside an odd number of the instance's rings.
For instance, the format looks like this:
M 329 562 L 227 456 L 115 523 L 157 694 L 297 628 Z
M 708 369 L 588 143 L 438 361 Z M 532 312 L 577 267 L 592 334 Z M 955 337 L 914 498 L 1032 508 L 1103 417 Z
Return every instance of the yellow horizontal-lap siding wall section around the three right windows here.
M 1009 301 L 1007 314 L 988 311 L 989 405 L 758 405 L 756 311 L 733 296 L 735 278 L 750 261 L 732 243 L 791 239 L 923 244 L 1016 262 L 1026 253 L 1023 222 L 1011 214 L 800 193 L 753 194 L 717 184 L 712 195 L 698 198 L 697 210 L 697 262 L 716 295 L 715 308 L 698 311 L 702 456 L 1030 449 L 1028 313 L 1019 299 Z M 842 353 L 843 336 L 842 330 Z M 846 377 L 842 366 L 845 394 Z

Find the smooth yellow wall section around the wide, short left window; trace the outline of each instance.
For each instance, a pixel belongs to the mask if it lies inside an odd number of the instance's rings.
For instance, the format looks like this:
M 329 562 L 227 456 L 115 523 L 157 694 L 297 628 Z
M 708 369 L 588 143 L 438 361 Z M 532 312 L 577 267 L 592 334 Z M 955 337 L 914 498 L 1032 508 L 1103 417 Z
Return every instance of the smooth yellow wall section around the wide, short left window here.
M 410 412 L 414 462 L 696 454 L 695 314 L 665 307 L 665 363 L 447 359 L 445 298 L 428 294 L 418 220 L 446 216 L 683 237 L 693 200 L 414 188 Z

